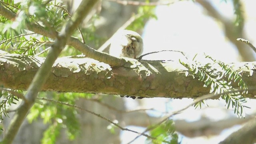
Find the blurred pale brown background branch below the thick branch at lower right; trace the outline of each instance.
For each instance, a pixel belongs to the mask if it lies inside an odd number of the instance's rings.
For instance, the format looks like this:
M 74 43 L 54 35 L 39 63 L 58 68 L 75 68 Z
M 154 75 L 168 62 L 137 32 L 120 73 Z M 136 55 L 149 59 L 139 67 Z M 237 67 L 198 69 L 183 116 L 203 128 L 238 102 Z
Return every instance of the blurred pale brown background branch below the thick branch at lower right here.
M 152 126 L 162 120 L 162 118 L 156 118 L 148 116 L 146 112 L 129 112 L 122 113 L 124 116 L 124 123 L 126 126 Z M 134 119 L 136 118 L 136 119 Z M 198 136 L 214 136 L 219 135 L 226 128 L 238 124 L 244 124 L 252 119 L 252 116 L 246 116 L 246 118 L 230 117 L 218 121 L 211 120 L 207 117 L 202 117 L 200 120 L 194 122 L 188 122 L 186 120 L 174 120 L 175 129 L 177 132 L 183 134 L 186 137 L 198 137 Z

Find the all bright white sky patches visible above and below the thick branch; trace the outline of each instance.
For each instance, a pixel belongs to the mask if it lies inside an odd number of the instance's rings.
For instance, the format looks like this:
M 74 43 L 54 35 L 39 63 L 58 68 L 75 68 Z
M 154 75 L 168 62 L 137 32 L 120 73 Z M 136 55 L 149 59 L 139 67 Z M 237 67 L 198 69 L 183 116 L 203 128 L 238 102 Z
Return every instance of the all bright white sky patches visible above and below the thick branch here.
M 211 0 L 214 6 L 229 19 L 234 19 L 234 10 L 231 0 Z M 246 23 L 245 32 L 247 38 L 250 38 L 250 42 L 256 45 L 256 1 L 254 0 L 241 0 L 245 5 Z M 150 20 L 144 29 L 142 34 L 144 40 L 144 53 L 155 52 L 160 50 L 180 50 L 188 52 L 190 57 L 193 57 L 196 53 L 203 54 L 204 52 L 215 59 L 222 60 L 224 62 L 236 62 L 239 60 L 239 54 L 234 46 L 228 42 L 222 31 L 222 25 L 216 22 L 213 18 L 205 14 L 204 9 L 192 0 L 176 2 L 170 6 L 158 6 L 156 8 L 156 14 L 158 20 Z M 220 52 L 221 51 L 221 52 Z M 162 52 L 154 55 L 148 55 L 145 59 L 148 60 L 178 60 L 182 56 L 175 52 Z M 144 100 L 144 99 L 143 99 Z M 127 100 L 128 102 L 130 100 Z M 166 107 L 166 102 L 169 99 L 166 98 L 150 98 L 144 100 L 145 108 L 155 108 L 161 112 L 167 110 L 177 110 L 181 106 L 186 106 L 192 99 L 172 100 Z M 131 102 L 129 102 L 129 105 Z M 219 100 L 208 100 L 209 106 L 216 106 L 219 109 L 207 109 L 199 110 L 189 108 L 182 114 L 178 114 L 174 119 L 186 119 L 188 121 L 198 120 L 202 115 L 210 117 L 213 120 L 219 120 L 227 117 L 225 108 L 225 102 Z M 136 104 L 135 104 L 136 105 Z M 247 106 L 250 106 L 248 104 Z M 252 112 L 254 109 L 247 110 L 247 113 Z M 232 114 L 233 110 L 230 110 L 229 114 Z M 153 114 L 153 113 L 151 113 Z M 154 113 L 153 115 L 158 115 Z M 134 128 L 134 127 L 129 127 Z M 220 136 L 213 136 L 211 138 L 182 138 L 182 144 L 194 144 L 194 143 L 207 143 L 216 144 L 226 138 L 232 131 L 240 128 L 236 126 L 229 131 L 223 132 Z M 138 131 L 144 129 L 136 127 Z M 130 133 L 129 133 L 130 134 Z M 126 144 L 136 134 L 127 135 L 126 132 L 122 132 L 121 139 L 124 140 L 122 144 Z M 128 139 L 130 138 L 130 139 Z M 141 136 L 133 144 L 142 144 L 146 138 Z

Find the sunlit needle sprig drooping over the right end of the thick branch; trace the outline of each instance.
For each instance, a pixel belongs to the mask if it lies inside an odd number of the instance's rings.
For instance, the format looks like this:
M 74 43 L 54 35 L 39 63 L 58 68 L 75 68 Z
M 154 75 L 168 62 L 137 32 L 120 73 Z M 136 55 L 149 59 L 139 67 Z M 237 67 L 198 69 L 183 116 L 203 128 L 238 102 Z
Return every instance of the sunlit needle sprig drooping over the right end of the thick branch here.
M 196 57 L 196 56 L 195 56 Z M 230 92 L 221 96 L 223 100 L 226 102 L 227 108 L 234 108 L 234 113 L 238 116 L 245 116 L 244 103 L 246 99 L 242 96 L 242 94 L 247 93 L 248 86 L 242 80 L 242 71 L 233 70 L 224 62 L 220 62 L 214 60 L 210 56 L 206 56 L 205 58 L 209 60 L 208 63 L 202 63 L 193 59 L 192 63 L 181 62 L 183 66 L 185 66 L 188 70 L 185 72 L 185 76 L 192 76 L 193 78 L 198 78 L 199 81 L 204 83 L 204 87 L 210 86 L 210 93 L 214 92 L 214 94 L 219 94 L 223 92 Z M 243 92 L 231 92 L 236 90 L 233 86 L 237 85 L 238 88 L 244 90 Z M 199 102 L 195 104 L 195 107 L 200 106 L 204 102 Z M 248 108 L 248 107 L 247 107 Z

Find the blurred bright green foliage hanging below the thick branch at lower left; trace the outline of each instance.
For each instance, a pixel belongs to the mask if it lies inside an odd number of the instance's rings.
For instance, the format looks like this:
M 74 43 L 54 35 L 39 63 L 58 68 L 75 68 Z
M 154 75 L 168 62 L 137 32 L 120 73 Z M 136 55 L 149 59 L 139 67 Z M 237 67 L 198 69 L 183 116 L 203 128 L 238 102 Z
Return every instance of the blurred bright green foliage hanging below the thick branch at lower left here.
M 38 95 L 38 101 L 31 108 L 28 114 L 28 122 L 33 122 L 38 118 L 42 118 L 45 124 L 49 124 L 49 127 L 44 131 L 42 143 L 56 143 L 60 130 L 65 130 L 69 140 L 74 140 L 76 136 L 80 134 L 80 123 L 77 115 L 76 108 L 49 102 L 44 98 L 51 98 L 58 102 L 68 103 L 70 105 L 75 104 L 78 98 L 90 98 L 92 94 L 84 93 L 58 93 L 55 92 L 40 92 Z M 52 129 L 58 128 L 58 131 L 52 132 Z

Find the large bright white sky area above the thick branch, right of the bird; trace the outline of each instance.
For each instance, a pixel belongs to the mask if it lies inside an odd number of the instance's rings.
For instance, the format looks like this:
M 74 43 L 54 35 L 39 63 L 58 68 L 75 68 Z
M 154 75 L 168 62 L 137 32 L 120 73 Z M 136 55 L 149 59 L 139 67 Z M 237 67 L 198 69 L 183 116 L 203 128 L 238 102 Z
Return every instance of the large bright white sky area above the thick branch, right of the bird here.
M 226 6 L 225 15 L 234 17 L 230 5 L 225 2 L 220 4 L 218 0 L 215 2 L 222 8 Z M 204 9 L 192 0 L 176 2 L 170 6 L 158 6 L 158 20 L 150 20 L 143 33 L 144 52 L 180 50 L 188 52 L 191 56 L 206 52 L 220 60 L 236 61 L 237 52 L 225 39 L 221 25 L 204 12 Z M 228 59 L 227 53 L 230 55 Z M 180 58 L 180 54 L 162 52 L 155 54 L 154 59 L 170 59 L 170 55 L 174 59 Z M 152 59 L 152 55 L 148 57 Z

